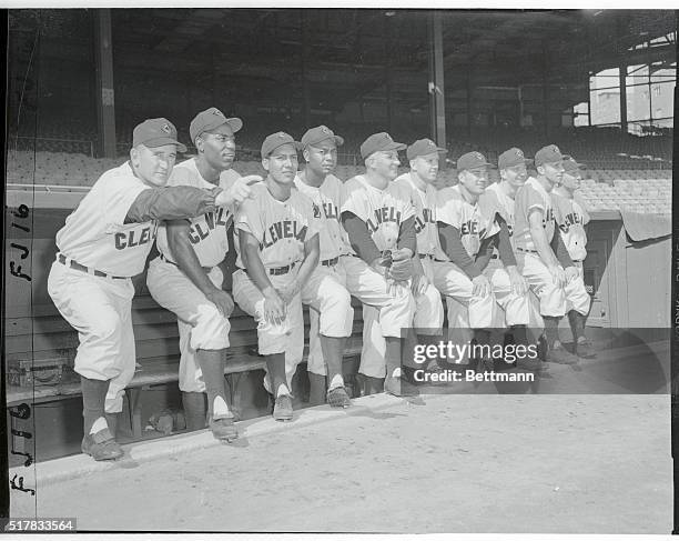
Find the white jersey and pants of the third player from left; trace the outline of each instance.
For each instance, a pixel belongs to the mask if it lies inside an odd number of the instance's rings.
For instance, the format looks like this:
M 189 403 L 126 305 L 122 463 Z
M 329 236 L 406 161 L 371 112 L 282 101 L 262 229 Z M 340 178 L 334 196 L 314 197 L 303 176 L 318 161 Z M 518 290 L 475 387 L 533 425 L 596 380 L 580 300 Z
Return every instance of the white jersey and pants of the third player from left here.
M 320 220 L 314 218 L 312 201 L 296 189 L 285 201 L 268 191 L 266 182 L 252 187 L 253 199 L 245 200 L 236 211 L 236 231 L 246 231 L 260 242 L 260 258 L 275 289 L 291 283 L 304 261 L 304 243 L 318 234 Z M 259 351 L 262 355 L 285 353 L 287 387 L 304 354 L 304 319 L 302 298 L 297 293 L 287 303 L 285 321 L 281 325 L 264 320 L 264 295 L 244 270 L 241 248 L 236 244 L 236 266 L 233 273 L 233 298 L 243 311 L 254 317 L 257 324 Z M 272 392 L 268 378 L 264 385 Z

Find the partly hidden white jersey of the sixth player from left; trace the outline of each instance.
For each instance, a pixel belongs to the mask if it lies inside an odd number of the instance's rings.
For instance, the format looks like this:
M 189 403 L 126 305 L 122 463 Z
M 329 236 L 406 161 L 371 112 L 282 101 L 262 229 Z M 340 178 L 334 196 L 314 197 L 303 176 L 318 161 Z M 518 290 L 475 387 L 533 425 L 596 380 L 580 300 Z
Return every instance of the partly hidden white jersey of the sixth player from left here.
M 411 203 L 415 211 L 417 252 L 434 256 L 435 259 L 443 260 L 445 254 L 440 249 L 438 226 L 436 224 L 438 191 L 432 184 L 427 184 L 426 190 L 420 190 L 413 181 L 412 174 L 415 173 L 404 173 L 396 178 L 394 182 L 403 184 L 411 190 Z

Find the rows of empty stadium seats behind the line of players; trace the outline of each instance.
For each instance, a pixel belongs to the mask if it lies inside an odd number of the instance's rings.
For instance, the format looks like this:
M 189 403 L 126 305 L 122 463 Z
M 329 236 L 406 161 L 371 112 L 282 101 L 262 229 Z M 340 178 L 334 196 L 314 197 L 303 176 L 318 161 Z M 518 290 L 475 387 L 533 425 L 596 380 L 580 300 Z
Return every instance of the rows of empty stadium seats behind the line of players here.
M 257 148 L 261 138 L 254 130 L 247 131 L 247 134 L 239 134 L 239 161 L 234 163 L 234 169 L 243 176 L 264 176 Z M 337 132 L 345 137 L 346 142 L 340 149 L 341 156 L 335 174 L 346 180 L 365 171 L 358 147 L 359 141 L 371 132 L 371 129 L 364 127 L 361 130 L 346 132 L 337 130 Z M 61 139 L 90 137 L 90 140 L 94 141 L 94 136 L 91 133 L 68 129 L 49 134 L 54 136 L 54 139 L 59 139 L 57 136 Z M 417 138 L 416 134 L 412 134 L 408 139 L 403 133 L 394 133 L 394 137 L 403 141 Z M 671 137 L 639 138 L 621 136 L 619 131 L 612 129 L 580 128 L 577 131 L 560 130 L 549 142 L 555 142 L 563 152 L 574 156 L 579 162 L 588 166 L 585 172 L 586 180 L 580 190 L 581 199 L 588 210 L 627 209 L 665 214 L 671 212 Z M 477 150 L 484 152 L 489 161 L 496 162 L 497 156 L 507 148 L 519 147 L 526 156 L 533 156 L 544 143 L 544 137 L 528 131 L 486 130 L 476 131 L 473 136 L 453 131 L 448 144 L 448 159 L 442 161 L 436 187 L 440 189 L 457 182 L 455 160 L 465 152 Z M 92 186 L 103 171 L 122 163 L 129 142 L 121 142 L 120 156 L 116 159 L 94 159 L 88 156 L 89 151 L 73 152 L 75 148 L 73 147 L 71 151 L 48 151 L 41 150 L 41 144 L 33 142 L 29 150 L 22 150 L 26 146 L 21 140 L 14 142 L 10 140 L 7 154 L 7 183 Z M 406 171 L 406 168 L 404 159 L 399 172 Z M 490 170 L 490 180 L 497 179 L 498 171 Z

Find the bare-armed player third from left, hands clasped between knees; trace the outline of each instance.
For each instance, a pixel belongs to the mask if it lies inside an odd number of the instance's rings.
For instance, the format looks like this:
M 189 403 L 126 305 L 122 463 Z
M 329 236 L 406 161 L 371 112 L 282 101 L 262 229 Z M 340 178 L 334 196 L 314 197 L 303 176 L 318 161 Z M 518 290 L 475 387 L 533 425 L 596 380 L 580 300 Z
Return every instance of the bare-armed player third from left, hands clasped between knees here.
M 262 143 L 264 182 L 236 212 L 239 232 L 233 297 L 257 324 L 260 354 L 266 357 L 266 390 L 273 417 L 293 417 L 292 378 L 304 351 L 301 290 L 318 266 L 320 221 L 311 200 L 294 190 L 297 141 L 284 132 Z M 245 267 L 246 266 L 246 267 Z

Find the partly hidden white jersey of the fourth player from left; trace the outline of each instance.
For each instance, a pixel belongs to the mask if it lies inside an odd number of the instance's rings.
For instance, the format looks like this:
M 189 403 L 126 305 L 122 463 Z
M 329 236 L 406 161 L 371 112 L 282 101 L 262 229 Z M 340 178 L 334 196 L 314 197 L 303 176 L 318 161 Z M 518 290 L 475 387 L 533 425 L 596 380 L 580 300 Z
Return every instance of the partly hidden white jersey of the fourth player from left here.
M 295 187 L 311 199 L 314 217 L 321 220 L 318 264 L 321 261 L 349 253 L 348 238 L 342 227 L 340 213 L 343 202 L 342 186 L 342 181 L 334 174 L 328 174 L 318 188 L 308 186 L 300 177 L 295 177 Z

